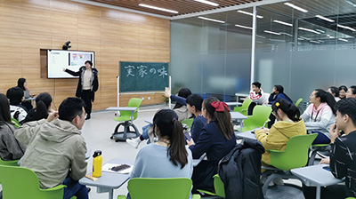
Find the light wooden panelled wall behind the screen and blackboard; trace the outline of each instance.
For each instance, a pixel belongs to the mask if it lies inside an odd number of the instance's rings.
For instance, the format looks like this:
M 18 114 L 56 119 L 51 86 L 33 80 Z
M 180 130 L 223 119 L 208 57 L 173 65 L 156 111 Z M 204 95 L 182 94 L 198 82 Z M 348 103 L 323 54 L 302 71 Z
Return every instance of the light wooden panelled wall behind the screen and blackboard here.
M 119 61 L 169 61 L 169 28 L 169 20 L 67 0 L 0 0 L 0 92 L 25 77 L 32 94 L 49 92 L 59 107 L 75 95 L 77 79 L 47 79 L 40 49 L 71 41 L 70 50 L 95 52 L 93 109 L 116 106 Z M 121 95 L 120 105 L 132 97 L 144 98 L 142 105 L 163 102 L 161 93 L 134 93 Z

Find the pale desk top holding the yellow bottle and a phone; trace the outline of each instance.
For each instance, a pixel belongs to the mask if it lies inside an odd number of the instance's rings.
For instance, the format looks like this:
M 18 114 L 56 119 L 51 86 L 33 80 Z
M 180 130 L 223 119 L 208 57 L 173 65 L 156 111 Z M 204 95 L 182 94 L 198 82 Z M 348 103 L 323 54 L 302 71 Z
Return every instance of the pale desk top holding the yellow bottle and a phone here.
M 130 164 L 134 165 L 134 160 L 123 160 L 123 159 L 112 159 L 108 163 L 116 163 L 116 164 Z M 93 175 L 93 172 L 89 173 Z M 131 176 L 130 174 L 119 174 L 119 173 L 112 173 L 112 172 L 101 172 L 101 177 L 98 180 L 93 181 L 92 179 L 82 178 L 79 179 L 79 183 L 82 185 L 88 185 L 93 187 L 105 187 L 115 189 L 121 187 Z

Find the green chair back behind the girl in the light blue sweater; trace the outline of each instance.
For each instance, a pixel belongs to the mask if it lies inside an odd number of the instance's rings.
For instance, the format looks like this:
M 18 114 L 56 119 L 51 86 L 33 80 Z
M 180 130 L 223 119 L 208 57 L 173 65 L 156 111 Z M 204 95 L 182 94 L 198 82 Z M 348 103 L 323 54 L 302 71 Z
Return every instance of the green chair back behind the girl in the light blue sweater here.
M 139 178 L 128 181 L 128 191 L 132 199 L 186 199 L 190 195 L 191 179 L 150 179 Z M 117 199 L 125 199 L 125 195 L 118 195 Z M 199 199 L 200 195 L 192 195 Z

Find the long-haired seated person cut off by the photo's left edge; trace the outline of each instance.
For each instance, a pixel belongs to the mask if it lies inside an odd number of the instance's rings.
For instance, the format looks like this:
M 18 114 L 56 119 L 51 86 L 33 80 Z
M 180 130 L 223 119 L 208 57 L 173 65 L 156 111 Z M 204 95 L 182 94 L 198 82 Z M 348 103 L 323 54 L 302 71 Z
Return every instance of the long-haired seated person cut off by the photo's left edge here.
M 11 122 L 10 104 L 6 96 L 0 93 L 0 157 L 2 160 L 18 160 L 26 147 L 13 136 L 15 127 Z

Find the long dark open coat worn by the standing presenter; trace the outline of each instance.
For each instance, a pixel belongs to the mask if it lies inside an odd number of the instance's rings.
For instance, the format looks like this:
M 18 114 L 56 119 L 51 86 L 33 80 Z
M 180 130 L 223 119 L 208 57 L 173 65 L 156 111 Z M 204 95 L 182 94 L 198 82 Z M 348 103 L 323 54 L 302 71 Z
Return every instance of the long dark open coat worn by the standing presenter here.
M 82 92 L 83 92 L 83 81 L 84 81 L 84 74 L 85 74 L 85 67 L 79 68 L 79 71 L 74 72 L 72 70 L 66 69 L 65 72 L 69 73 L 72 76 L 79 76 L 79 81 L 77 85 L 77 92 L 76 96 L 78 98 L 82 97 Z M 98 81 L 98 70 L 96 68 L 92 68 L 92 78 L 90 79 L 91 81 L 91 86 L 90 86 L 90 91 L 91 91 L 91 100 L 94 101 L 94 92 L 98 91 L 99 88 L 99 81 Z

